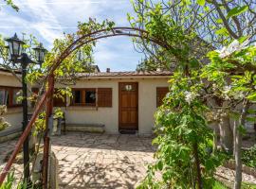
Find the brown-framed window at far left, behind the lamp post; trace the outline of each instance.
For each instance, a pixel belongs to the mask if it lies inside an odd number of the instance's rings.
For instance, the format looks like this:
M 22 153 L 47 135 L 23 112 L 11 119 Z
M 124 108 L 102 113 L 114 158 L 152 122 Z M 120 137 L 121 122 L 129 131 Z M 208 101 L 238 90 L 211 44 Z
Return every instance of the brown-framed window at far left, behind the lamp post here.
M 21 88 L 0 86 L 0 105 L 6 105 L 7 107 L 22 106 L 22 102 L 18 100 L 21 95 Z

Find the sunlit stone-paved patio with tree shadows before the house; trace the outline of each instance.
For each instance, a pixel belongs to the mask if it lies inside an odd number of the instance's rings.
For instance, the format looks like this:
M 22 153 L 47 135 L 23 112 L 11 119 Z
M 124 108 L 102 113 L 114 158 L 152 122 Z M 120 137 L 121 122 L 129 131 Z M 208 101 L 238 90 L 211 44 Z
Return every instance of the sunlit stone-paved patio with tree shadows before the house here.
M 146 164 L 154 161 L 151 142 L 151 137 L 136 135 L 69 132 L 54 136 L 60 188 L 135 188 L 146 174 Z M 0 144 L 1 160 L 14 144 Z

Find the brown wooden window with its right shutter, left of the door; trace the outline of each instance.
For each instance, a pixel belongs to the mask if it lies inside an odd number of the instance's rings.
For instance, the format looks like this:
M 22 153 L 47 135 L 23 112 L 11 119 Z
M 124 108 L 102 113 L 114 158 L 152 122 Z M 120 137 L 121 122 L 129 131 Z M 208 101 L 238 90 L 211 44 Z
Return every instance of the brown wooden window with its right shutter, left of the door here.
M 112 107 L 111 88 L 73 89 L 72 105 L 88 107 Z

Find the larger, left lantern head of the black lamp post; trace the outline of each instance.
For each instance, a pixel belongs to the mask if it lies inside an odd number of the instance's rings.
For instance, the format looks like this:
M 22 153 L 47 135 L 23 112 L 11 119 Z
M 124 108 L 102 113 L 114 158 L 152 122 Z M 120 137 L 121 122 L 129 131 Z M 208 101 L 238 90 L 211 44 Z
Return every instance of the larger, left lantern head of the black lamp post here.
M 9 47 L 9 58 L 13 62 L 15 62 L 23 52 L 23 44 L 25 44 L 22 40 L 17 37 L 15 33 L 13 37 L 6 39 Z

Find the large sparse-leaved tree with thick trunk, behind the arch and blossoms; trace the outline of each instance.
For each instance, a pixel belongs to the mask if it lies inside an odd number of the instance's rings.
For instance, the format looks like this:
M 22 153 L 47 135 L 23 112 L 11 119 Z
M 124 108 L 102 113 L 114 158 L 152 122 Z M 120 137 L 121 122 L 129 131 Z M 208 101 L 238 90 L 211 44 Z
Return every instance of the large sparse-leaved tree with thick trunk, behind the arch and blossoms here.
M 196 37 L 190 42 L 190 53 L 203 64 L 209 62 L 206 59 L 207 52 L 227 45 L 234 39 L 247 36 L 249 43 L 254 43 L 256 40 L 256 3 L 252 0 L 173 0 L 160 1 L 156 5 L 151 0 L 137 0 L 134 2 L 134 8 L 137 17 L 128 15 L 132 26 L 148 29 L 158 16 L 162 24 L 158 26 L 165 33 L 169 27 L 174 25 L 183 28 L 186 34 L 193 32 Z M 159 9 L 160 13 L 158 11 L 153 15 L 155 9 Z M 168 25 L 163 25 L 167 18 L 169 18 Z M 142 61 L 137 66 L 140 70 L 157 69 L 157 67 L 173 70 L 174 67 L 179 66 L 179 62 L 175 62 L 167 51 L 155 44 L 139 39 L 135 42 L 137 50 L 145 54 L 146 60 L 150 60 Z M 178 44 L 176 41 L 174 43 Z M 217 96 L 210 101 L 212 108 L 223 107 L 227 104 L 225 99 Z M 220 121 L 217 124 L 220 128 L 221 144 L 225 149 L 232 151 L 233 128 L 229 123 L 229 110 L 223 109 L 222 112 L 219 113 Z

